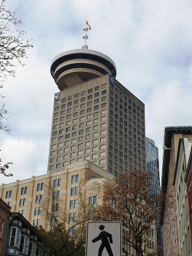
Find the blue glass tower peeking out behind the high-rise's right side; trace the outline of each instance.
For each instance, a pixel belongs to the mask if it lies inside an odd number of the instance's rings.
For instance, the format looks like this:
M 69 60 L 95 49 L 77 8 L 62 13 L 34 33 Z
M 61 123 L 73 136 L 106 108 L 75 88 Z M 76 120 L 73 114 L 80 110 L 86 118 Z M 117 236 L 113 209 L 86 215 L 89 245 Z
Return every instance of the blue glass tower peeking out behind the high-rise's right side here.
M 159 178 L 159 164 L 158 164 L 158 148 L 155 146 L 155 141 L 150 138 L 145 138 L 146 143 L 146 166 L 147 173 L 153 173 L 151 180 L 150 192 L 156 195 L 161 194 L 160 178 Z M 161 226 L 157 225 L 157 243 L 158 246 L 163 246 Z

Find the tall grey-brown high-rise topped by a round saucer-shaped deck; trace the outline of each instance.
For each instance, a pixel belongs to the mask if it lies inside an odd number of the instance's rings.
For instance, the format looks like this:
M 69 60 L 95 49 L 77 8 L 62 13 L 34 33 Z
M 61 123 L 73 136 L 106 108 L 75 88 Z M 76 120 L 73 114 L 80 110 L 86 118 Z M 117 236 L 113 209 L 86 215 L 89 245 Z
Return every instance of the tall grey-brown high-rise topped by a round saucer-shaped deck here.
M 115 63 L 94 50 L 69 50 L 50 71 L 60 91 L 47 172 L 85 160 L 115 176 L 145 170 L 145 105 L 115 80 Z

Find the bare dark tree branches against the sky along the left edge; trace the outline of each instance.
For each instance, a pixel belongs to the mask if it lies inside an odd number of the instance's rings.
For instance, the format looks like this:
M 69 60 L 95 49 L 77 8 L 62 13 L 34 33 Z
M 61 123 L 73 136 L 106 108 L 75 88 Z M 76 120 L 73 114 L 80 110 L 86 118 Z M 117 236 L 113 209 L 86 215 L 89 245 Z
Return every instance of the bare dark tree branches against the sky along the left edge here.
M 16 18 L 16 12 L 5 6 L 6 0 L 1 0 L 0 3 L 0 88 L 3 87 L 3 82 L 8 76 L 15 77 L 15 68 L 18 64 L 25 65 L 23 59 L 27 58 L 28 48 L 33 46 L 29 40 L 25 40 L 26 31 L 15 30 L 15 26 L 21 24 L 21 20 Z M 0 97 L 3 97 L 0 94 Z M 0 129 L 9 132 L 7 110 L 3 104 L 0 110 Z M 1 159 L 0 159 L 1 162 Z M 7 174 L 6 169 L 11 163 L 6 165 L 0 164 L 0 173 L 4 176 L 12 176 Z

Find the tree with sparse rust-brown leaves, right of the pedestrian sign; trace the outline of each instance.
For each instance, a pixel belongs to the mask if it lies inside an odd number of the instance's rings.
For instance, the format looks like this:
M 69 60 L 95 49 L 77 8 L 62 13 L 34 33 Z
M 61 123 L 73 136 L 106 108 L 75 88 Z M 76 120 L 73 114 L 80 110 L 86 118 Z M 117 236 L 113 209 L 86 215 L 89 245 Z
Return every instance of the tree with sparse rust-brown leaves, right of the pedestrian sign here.
M 172 207 L 172 197 L 150 193 L 150 174 L 130 171 L 106 187 L 96 219 L 123 225 L 123 255 L 157 255 L 155 226 L 161 203 Z

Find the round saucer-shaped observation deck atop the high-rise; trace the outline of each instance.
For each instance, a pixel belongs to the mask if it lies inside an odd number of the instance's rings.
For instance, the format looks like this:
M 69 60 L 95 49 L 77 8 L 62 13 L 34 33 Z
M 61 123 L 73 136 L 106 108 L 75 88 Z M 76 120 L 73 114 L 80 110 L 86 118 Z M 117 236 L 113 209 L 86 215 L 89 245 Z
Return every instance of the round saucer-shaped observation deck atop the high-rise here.
M 68 50 L 53 59 L 50 73 L 58 89 L 63 91 L 102 75 L 110 74 L 115 78 L 116 66 L 112 59 L 95 50 Z

